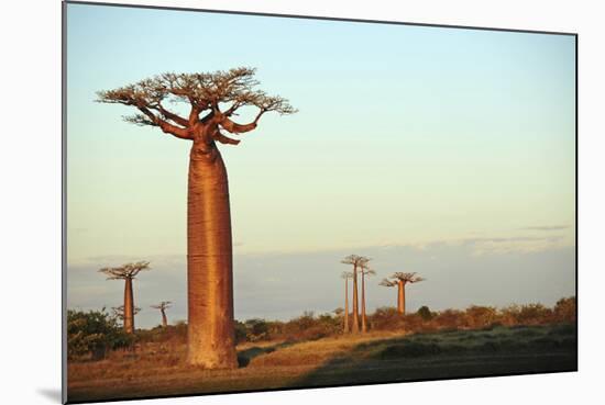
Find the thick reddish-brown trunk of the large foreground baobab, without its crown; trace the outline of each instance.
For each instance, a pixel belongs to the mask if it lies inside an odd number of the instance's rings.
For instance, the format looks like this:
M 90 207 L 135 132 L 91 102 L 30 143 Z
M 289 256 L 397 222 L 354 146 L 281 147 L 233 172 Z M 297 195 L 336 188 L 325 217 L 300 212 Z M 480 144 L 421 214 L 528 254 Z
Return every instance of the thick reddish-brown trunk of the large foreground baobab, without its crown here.
M 187 239 L 188 362 L 235 368 L 227 170 L 216 146 L 201 139 L 189 160 Z

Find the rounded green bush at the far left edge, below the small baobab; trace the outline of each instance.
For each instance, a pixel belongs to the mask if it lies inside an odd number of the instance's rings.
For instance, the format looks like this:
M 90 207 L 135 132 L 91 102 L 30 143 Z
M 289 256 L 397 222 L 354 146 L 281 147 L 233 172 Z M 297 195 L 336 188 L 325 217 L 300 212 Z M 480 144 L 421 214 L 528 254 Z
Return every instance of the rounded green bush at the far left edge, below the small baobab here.
M 106 357 L 108 350 L 130 347 L 133 336 L 125 334 L 116 317 L 101 311 L 67 311 L 67 356 L 70 360 L 90 355 Z

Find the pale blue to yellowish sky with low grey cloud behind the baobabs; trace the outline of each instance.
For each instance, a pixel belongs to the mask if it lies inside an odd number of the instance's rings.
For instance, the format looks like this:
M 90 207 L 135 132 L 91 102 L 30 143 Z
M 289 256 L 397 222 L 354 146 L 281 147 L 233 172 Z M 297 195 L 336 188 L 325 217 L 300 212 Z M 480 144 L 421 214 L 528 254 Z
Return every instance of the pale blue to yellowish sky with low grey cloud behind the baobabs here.
M 118 306 L 97 270 L 150 260 L 140 326 L 186 318 L 189 143 L 121 120 L 96 91 L 165 71 L 257 68 L 297 114 L 265 114 L 229 172 L 235 316 L 342 306 L 349 254 L 408 307 L 552 305 L 575 291 L 575 38 L 67 5 L 68 306 Z M 245 116 L 242 117 L 244 120 Z

